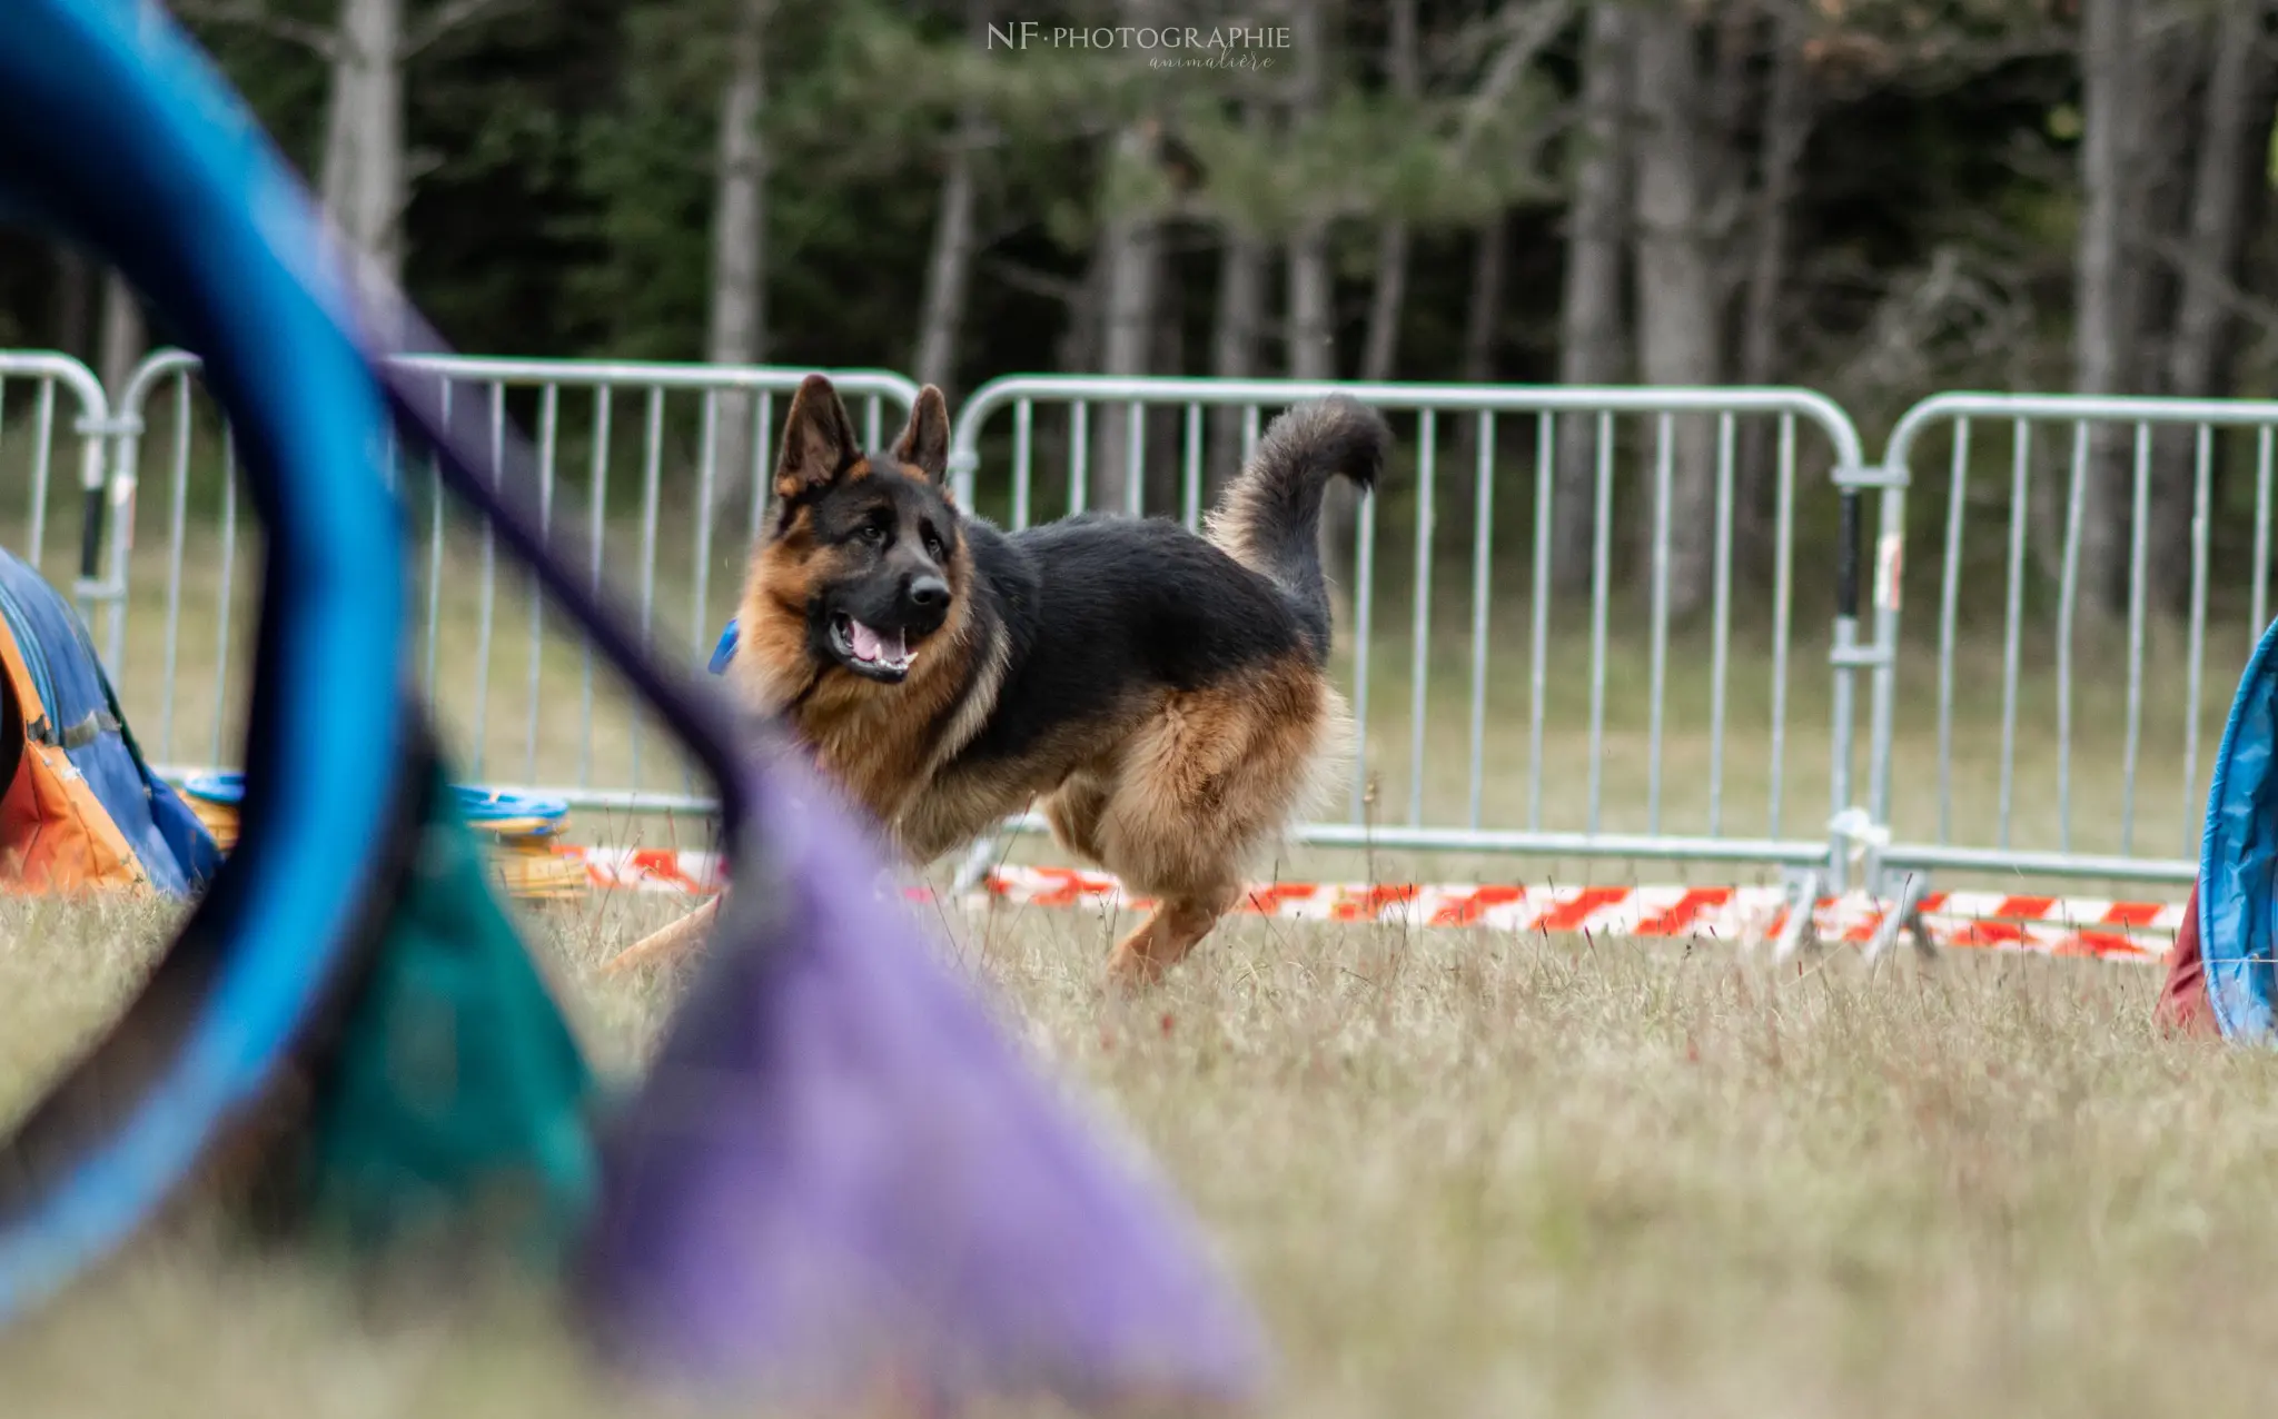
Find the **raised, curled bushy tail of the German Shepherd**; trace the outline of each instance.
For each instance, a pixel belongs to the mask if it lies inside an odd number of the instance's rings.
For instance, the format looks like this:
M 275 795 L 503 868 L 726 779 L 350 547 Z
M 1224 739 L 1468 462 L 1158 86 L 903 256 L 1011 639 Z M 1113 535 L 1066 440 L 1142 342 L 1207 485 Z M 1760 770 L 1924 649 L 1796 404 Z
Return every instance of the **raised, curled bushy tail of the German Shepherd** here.
M 1321 494 L 1337 474 L 1371 487 L 1390 446 L 1385 417 L 1355 399 L 1301 403 L 1267 426 L 1210 512 L 1210 540 L 1289 597 L 1319 661 L 1330 640 Z

